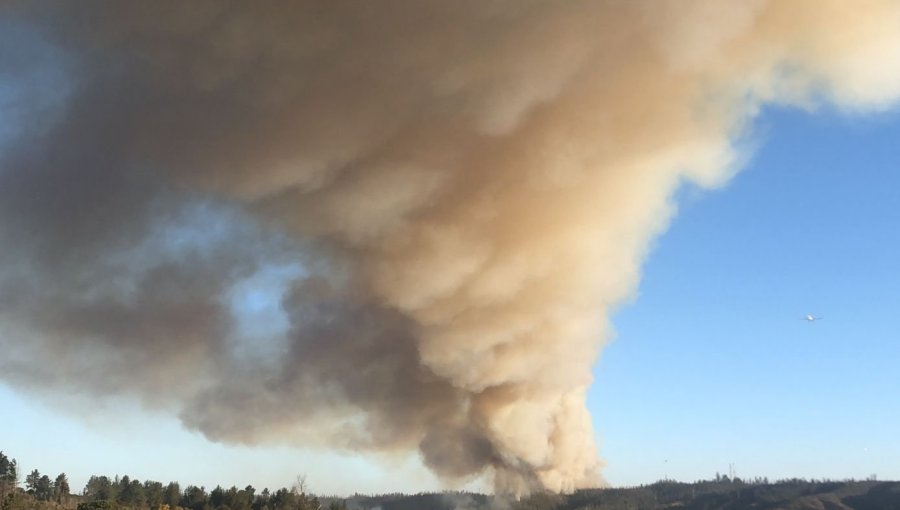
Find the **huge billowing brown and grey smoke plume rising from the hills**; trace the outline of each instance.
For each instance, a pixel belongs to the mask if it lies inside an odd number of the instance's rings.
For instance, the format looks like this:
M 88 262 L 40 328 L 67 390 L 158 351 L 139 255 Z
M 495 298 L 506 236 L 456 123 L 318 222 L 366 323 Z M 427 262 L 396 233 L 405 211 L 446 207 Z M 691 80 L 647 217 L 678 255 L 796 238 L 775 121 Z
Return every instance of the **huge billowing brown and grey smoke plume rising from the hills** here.
M 600 482 L 591 366 L 680 183 L 767 102 L 900 94 L 894 1 L 0 12 L 5 382 L 499 491 Z M 239 334 L 291 264 L 287 332 Z

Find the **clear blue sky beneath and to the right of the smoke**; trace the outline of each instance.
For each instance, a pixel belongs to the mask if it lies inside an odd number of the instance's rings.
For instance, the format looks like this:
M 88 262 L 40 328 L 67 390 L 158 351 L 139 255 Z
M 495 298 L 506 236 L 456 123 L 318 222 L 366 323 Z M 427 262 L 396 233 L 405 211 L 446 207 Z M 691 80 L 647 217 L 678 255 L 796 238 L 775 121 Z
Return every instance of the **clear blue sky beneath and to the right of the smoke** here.
M 588 402 L 613 485 L 729 463 L 770 479 L 900 479 L 900 116 L 769 110 L 753 139 L 722 189 L 681 190 L 637 297 L 613 316 Z M 23 471 L 65 471 L 76 490 L 90 474 L 438 487 L 415 458 L 227 447 L 127 404 L 85 420 L 0 387 L 0 409 L 0 448 Z

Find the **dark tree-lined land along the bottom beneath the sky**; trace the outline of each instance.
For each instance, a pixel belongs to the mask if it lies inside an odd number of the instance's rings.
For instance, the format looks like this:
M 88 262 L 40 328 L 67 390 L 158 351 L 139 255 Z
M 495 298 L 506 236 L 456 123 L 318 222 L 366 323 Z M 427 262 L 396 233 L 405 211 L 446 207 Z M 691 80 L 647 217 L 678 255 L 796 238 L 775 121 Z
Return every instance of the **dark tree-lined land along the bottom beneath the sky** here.
M 660 480 L 636 487 L 505 498 L 469 492 L 352 496 L 315 495 L 298 476 L 291 487 L 181 486 L 128 475 L 91 476 L 73 491 L 65 473 L 20 472 L 0 452 L 0 510 L 900 510 L 900 482 L 810 480 L 769 482 L 716 474 L 692 483 Z

